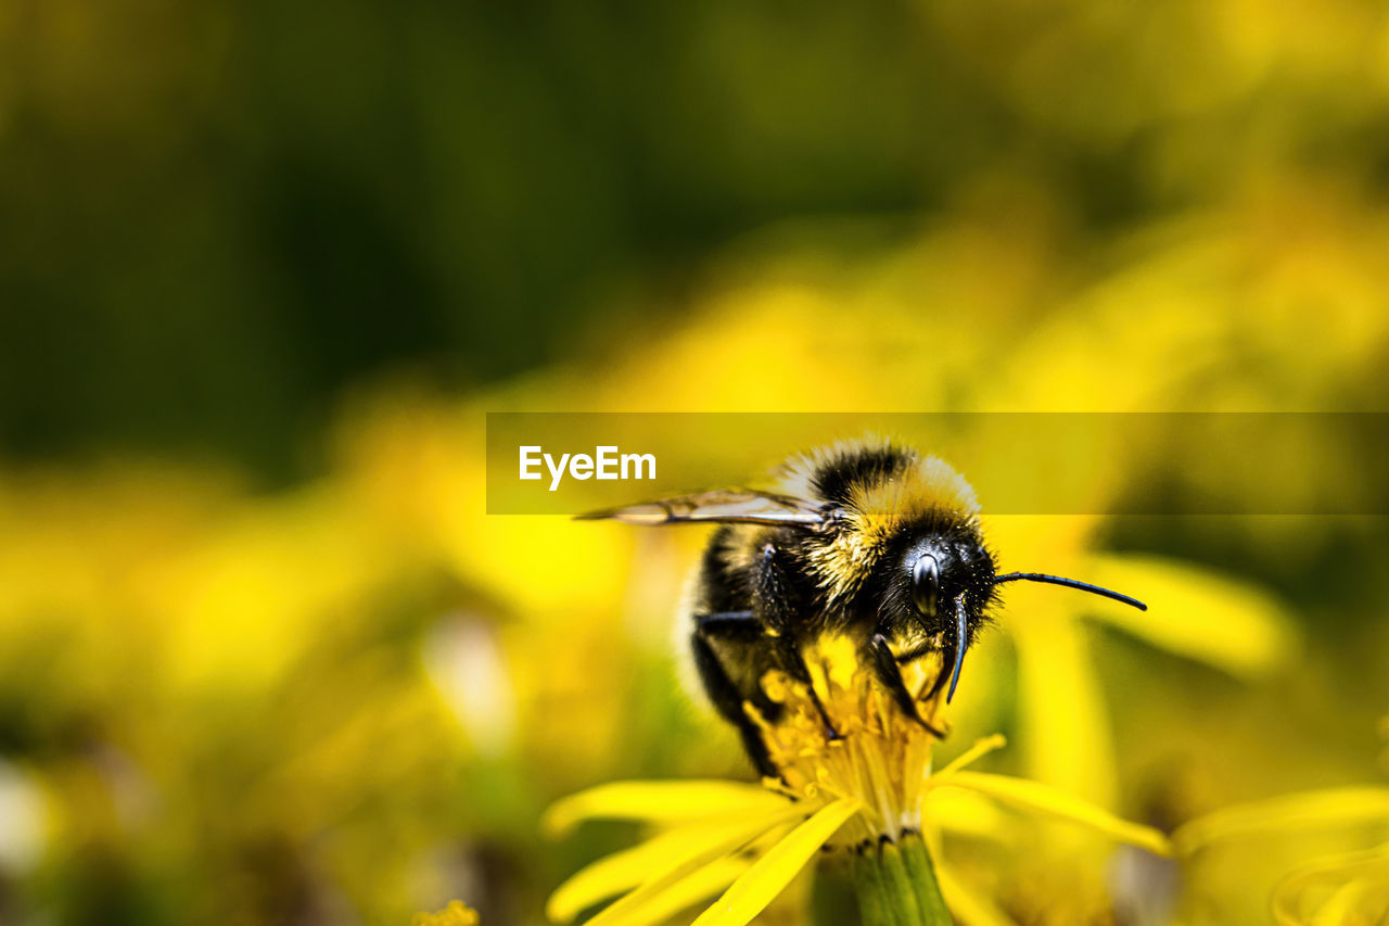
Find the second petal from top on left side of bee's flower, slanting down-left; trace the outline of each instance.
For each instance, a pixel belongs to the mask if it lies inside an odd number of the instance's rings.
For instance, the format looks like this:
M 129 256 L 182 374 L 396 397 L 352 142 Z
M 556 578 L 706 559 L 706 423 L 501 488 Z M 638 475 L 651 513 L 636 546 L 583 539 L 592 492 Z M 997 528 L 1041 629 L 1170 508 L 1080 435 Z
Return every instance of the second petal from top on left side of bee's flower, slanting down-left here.
M 679 868 L 694 856 L 703 856 L 715 847 L 731 841 L 749 843 L 786 820 L 804 815 L 804 809 L 789 801 L 768 813 L 740 813 L 722 816 L 710 823 L 682 826 L 647 840 L 633 848 L 601 858 L 581 869 L 550 894 L 546 916 L 565 923 L 601 900 L 632 890 Z

